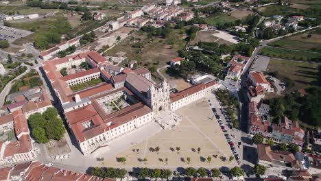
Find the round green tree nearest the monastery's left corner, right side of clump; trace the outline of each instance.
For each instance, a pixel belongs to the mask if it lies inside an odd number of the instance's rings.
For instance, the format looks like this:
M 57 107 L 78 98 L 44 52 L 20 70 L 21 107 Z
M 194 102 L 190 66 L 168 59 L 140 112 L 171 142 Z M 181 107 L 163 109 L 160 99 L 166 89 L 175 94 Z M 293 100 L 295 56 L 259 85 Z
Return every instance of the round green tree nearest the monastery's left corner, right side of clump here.
M 61 119 L 50 119 L 47 123 L 46 133 L 49 139 L 60 140 L 66 130 Z

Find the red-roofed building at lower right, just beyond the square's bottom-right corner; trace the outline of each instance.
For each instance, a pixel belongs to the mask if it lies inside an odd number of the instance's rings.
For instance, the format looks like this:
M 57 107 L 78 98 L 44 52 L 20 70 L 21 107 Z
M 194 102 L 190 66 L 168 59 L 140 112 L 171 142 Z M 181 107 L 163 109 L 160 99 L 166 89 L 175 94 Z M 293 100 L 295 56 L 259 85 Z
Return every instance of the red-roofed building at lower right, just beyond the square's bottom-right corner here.
M 257 162 L 260 165 L 270 167 L 281 167 L 283 169 L 300 169 L 300 163 L 294 157 L 294 154 L 284 151 L 273 151 L 269 145 L 257 145 Z

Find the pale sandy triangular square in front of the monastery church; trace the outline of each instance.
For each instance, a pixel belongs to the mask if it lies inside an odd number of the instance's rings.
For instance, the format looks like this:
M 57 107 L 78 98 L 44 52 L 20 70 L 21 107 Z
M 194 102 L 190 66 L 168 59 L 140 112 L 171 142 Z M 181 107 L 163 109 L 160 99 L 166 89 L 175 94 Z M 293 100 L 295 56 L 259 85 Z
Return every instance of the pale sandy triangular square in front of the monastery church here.
M 211 168 L 236 165 L 235 161 L 228 161 L 233 154 L 215 117 L 212 120 L 214 114 L 206 99 L 195 101 L 176 110 L 176 113 L 182 115 L 182 121 L 174 130 L 158 132 L 141 143 L 124 149 L 117 156 L 108 158 L 102 154 L 104 161 L 96 166 Z M 156 147 L 159 147 L 159 152 L 153 150 Z M 180 147 L 180 150 L 177 151 L 176 147 Z M 198 147 L 201 149 L 200 153 Z M 211 162 L 206 160 L 209 156 L 212 158 Z M 126 163 L 119 162 L 117 158 L 121 157 L 126 157 Z M 187 157 L 191 158 L 191 162 L 188 163 Z M 147 161 L 144 162 L 143 158 L 147 158 Z

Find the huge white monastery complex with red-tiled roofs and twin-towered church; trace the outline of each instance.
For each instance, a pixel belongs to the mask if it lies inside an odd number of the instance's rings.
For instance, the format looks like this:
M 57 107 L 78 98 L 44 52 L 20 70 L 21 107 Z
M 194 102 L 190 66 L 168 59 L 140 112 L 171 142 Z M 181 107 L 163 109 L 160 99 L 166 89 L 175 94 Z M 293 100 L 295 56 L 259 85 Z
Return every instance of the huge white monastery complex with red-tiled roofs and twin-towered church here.
M 62 68 L 81 62 L 86 62 L 91 69 L 61 75 Z M 117 67 L 93 51 L 44 62 L 43 69 L 84 155 L 108 147 L 115 138 L 141 128 L 160 114 L 201 99 L 218 86 L 211 81 L 170 93 L 169 84 L 166 81 L 154 83 L 148 69 Z M 97 77 L 102 77 L 105 82 L 75 93 L 70 88 Z M 111 110 L 108 105 L 113 105 L 116 100 L 123 104 L 121 108 Z

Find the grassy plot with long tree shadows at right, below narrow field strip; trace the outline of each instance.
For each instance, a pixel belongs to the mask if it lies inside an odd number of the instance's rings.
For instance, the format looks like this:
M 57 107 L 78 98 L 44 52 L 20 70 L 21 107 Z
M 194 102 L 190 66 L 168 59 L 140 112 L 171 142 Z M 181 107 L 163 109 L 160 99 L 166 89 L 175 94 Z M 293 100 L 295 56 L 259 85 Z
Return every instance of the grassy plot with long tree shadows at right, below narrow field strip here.
M 286 82 L 287 79 L 294 82 L 294 85 L 286 88 L 286 93 L 318 84 L 318 64 L 316 63 L 271 58 L 267 71 L 275 72 L 276 77 L 283 82 Z

